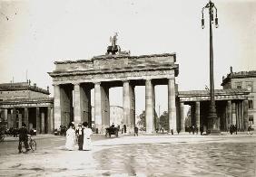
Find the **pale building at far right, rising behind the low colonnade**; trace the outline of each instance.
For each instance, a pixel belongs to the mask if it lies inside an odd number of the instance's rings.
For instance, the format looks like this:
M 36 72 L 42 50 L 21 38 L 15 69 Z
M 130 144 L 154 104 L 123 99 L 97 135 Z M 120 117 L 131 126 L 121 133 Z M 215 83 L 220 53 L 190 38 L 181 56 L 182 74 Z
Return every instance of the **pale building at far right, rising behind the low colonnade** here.
M 231 72 L 222 77 L 223 89 L 247 89 L 248 97 L 248 119 L 249 125 L 256 128 L 256 70 Z

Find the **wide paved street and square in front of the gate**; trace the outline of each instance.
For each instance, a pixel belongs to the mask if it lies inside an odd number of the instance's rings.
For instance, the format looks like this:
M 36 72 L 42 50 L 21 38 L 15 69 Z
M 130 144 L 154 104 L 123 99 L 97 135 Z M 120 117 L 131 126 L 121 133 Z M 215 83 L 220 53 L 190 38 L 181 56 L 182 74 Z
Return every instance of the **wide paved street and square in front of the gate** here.
M 255 176 L 256 135 L 94 135 L 93 151 L 64 150 L 64 136 L 35 136 L 37 150 L 0 144 L 0 176 Z

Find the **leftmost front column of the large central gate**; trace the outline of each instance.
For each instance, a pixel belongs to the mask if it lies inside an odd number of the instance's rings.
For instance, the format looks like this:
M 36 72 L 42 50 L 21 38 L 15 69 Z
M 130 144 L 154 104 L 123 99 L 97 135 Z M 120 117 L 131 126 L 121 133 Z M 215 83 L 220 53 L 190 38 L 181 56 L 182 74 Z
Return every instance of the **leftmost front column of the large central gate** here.
M 61 110 L 61 91 L 59 85 L 54 85 L 54 128 L 61 126 L 62 110 Z

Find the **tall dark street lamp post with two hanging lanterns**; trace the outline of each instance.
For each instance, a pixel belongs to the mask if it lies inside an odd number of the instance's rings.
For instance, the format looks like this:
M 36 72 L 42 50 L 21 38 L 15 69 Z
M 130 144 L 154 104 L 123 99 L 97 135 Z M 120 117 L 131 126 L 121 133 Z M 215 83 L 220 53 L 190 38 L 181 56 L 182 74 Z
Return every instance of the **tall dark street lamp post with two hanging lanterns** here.
M 202 8 L 202 29 L 204 28 L 203 11 L 209 9 L 209 23 L 210 23 L 210 96 L 211 103 L 209 107 L 209 114 L 207 117 L 208 133 L 220 134 L 219 118 L 216 114 L 215 99 L 214 99 L 214 79 L 213 79 L 213 47 L 212 47 L 212 23 L 214 21 L 215 13 L 215 27 L 218 28 L 217 8 L 210 0 L 207 5 Z

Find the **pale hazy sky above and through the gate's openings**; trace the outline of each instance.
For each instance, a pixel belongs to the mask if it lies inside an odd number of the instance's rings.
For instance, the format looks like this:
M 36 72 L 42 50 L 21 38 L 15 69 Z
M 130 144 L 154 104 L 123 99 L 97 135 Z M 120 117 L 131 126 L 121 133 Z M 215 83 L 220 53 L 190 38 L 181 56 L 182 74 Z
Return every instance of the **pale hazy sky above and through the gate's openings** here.
M 0 82 L 31 79 L 46 89 L 54 61 L 90 60 L 106 52 L 109 38 L 131 55 L 175 52 L 179 90 L 209 87 L 207 0 L 0 0 Z M 219 28 L 213 28 L 214 86 L 233 71 L 256 70 L 256 1 L 215 0 Z M 157 87 L 156 107 L 167 109 L 167 87 Z M 164 93 L 164 94 L 163 94 Z M 113 95 L 120 97 L 113 97 Z M 135 89 L 136 112 L 144 107 L 144 88 Z M 122 106 L 122 89 L 110 90 Z M 143 101 L 142 101 L 143 100 Z

